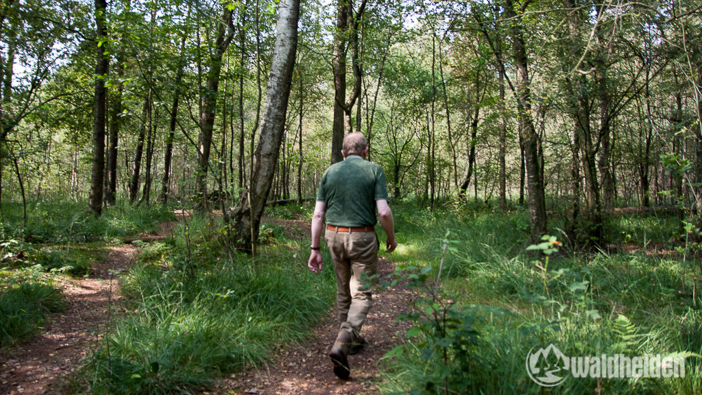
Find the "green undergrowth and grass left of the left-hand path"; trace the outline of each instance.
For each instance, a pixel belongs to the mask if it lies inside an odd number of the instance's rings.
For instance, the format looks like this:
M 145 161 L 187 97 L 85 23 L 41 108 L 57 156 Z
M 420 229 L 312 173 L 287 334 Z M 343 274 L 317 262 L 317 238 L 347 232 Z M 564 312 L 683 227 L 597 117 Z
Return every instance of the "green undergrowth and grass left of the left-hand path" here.
M 156 230 L 173 215 L 159 207 L 110 207 L 95 218 L 87 202 L 65 200 L 0 207 L 0 346 L 37 335 L 64 305 L 55 276 L 88 276 L 112 238 Z

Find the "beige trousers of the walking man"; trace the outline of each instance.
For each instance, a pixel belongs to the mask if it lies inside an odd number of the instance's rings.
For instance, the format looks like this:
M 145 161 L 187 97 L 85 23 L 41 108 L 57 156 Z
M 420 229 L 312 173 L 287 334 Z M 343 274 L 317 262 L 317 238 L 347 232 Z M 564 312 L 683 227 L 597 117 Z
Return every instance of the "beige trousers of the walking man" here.
M 378 270 L 378 238 L 375 232 L 326 230 L 326 246 L 336 274 L 336 309 L 340 331 L 361 332 L 373 304 L 373 281 Z

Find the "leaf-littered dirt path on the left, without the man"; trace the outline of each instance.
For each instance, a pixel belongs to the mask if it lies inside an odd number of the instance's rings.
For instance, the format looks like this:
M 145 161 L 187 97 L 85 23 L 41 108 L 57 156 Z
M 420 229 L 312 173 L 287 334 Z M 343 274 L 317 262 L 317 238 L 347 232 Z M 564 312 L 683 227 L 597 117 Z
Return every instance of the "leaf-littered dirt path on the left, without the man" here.
M 166 223 L 158 235 L 167 235 L 176 223 Z M 93 261 L 84 278 L 59 276 L 66 307 L 48 316 L 44 332 L 0 356 L 0 394 L 64 394 L 63 378 L 98 349 L 110 309 L 121 298 L 119 273 L 126 271 L 138 252 L 132 244 L 105 247 L 103 259 Z

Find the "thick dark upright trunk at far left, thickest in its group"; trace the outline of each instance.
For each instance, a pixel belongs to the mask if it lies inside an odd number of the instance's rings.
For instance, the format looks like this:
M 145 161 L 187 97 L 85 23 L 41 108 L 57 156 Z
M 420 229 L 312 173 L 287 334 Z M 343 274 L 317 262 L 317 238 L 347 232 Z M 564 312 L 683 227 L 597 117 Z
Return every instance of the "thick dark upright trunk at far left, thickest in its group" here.
M 90 212 L 95 216 L 102 213 L 102 187 L 105 177 L 105 77 L 110 66 L 110 58 L 105 55 L 107 43 L 107 0 L 95 0 L 95 25 L 97 60 L 95 65 L 95 96 L 93 103 L 93 169 L 89 198 Z

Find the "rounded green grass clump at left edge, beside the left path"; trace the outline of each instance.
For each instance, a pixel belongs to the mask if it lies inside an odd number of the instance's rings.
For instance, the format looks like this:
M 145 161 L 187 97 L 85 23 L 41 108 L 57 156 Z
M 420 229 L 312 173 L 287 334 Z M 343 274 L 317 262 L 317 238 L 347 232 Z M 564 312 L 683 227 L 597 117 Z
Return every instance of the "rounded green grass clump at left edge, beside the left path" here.
M 0 271 L 0 346 L 6 347 L 36 334 L 46 313 L 60 311 L 62 294 L 35 266 Z

